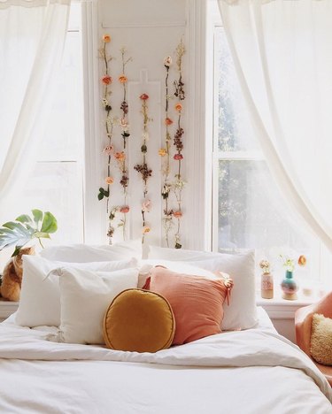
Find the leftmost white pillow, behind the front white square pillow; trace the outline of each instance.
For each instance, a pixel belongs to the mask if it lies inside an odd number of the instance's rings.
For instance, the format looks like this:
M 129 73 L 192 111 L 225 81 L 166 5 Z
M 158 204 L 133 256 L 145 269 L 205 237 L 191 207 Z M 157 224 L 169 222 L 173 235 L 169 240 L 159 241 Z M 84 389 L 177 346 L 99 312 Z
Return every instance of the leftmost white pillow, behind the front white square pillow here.
M 59 326 L 60 290 L 58 277 L 47 275 L 59 266 L 68 265 L 53 262 L 39 256 L 23 256 L 23 279 L 19 309 L 15 322 L 20 326 Z M 135 267 L 136 259 L 112 262 L 72 263 L 71 266 L 90 271 L 115 271 Z

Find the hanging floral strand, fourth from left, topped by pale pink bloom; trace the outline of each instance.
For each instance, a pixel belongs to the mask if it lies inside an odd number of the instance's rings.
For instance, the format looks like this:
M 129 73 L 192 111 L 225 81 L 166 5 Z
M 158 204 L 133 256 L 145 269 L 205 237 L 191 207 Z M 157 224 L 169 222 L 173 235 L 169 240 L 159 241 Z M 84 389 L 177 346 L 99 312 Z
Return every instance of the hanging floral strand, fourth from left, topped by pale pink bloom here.
M 170 96 L 168 94 L 168 76 L 169 76 L 169 68 L 172 65 L 172 58 L 167 56 L 164 59 L 164 66 L 166 68 L 166 79 L 165 79 L 165 89 L 166 89 L 166 104 L 165 104 L 165 126 L 166 126 L 166 138 L 165 138 L 165 148 L 161 148 L 158 150 L 158 154 L 160 157 L 164 158 L 163 167 L 162 167 L 162 174 L 164 177 L 163 187 L 161 189 L 161 196 L 165 202 L 164 204 L 164 231 L 165 231 L 165 240 L 166 245 L 169 247 L 169 231 L 173 226 L 173 210 L 170 210 L 168 207 L 169 201 L 169 194 L 171 192 L 171 184 L 169 182 L 169 173 L 170 173 L 170 147 L 171 147 L 171 134 L 169 133 L 169 126 L 173 124 L 173 120 L 168 116 L 169 110 L 169 99 Z

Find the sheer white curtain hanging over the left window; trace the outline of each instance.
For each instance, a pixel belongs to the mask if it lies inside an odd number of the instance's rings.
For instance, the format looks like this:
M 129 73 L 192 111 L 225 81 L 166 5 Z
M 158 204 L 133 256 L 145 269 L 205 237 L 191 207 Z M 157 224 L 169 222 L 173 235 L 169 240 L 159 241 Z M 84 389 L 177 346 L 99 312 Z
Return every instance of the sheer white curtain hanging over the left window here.
M 19 203 L 44 134 L 70 0 L 0 1 L 0 222 Z

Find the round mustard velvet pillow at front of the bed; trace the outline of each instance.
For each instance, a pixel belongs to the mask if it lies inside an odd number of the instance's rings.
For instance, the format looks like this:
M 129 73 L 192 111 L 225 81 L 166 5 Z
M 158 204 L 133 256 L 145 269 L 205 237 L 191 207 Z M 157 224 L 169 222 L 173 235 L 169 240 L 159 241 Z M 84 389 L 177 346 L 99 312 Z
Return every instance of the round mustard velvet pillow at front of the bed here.
M 172 345 L 175 319 L 165 297 L 142 289 L 127 289 L 117 295 L 104 316 L 107 348 L 157 352 Z

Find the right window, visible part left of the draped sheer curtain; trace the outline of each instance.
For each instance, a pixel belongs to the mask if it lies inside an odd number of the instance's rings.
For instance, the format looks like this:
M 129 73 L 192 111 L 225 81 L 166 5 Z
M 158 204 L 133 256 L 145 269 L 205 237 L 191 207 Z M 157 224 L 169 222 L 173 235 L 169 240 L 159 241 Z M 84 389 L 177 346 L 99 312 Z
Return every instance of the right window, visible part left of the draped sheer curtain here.
M 276 276 L 283 276 L 280 255 L 304 254 L 308 265 L 297 270 L 301 279 L 318 279 L 320 242 L 290 211 L 274 183 L 255 140 L 236 79 L 216 2 L 210 3 L 209 44 L 213 73 L 212 246 L 219 251 L 256 249 L 268 258 Z M 213 5 L 212 5 L 213 4 Z M 219 18 L 220 19 L 220 18 Z

